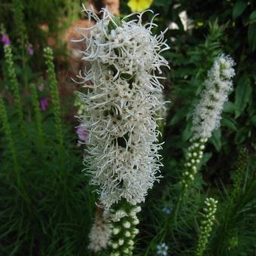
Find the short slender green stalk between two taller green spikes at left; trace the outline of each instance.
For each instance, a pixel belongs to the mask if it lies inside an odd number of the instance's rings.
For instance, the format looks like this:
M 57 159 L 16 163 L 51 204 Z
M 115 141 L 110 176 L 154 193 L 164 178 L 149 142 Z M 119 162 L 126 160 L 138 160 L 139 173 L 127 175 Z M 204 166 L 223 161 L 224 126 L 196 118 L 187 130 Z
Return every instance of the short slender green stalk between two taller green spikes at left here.
M 44 132 L 42 128 L 42 117 L 41 117 L 41 111 L 40 111 L 39 102 L 38 102 L 38 94 L 36 92 L 35 84 L 30 84 L 29 89 L 32 96 L 32 105 L 35 111 L 35 122 L 38 128 L 38 141 L 39 141 L 40 150 L 41 150 L 44 145 Z

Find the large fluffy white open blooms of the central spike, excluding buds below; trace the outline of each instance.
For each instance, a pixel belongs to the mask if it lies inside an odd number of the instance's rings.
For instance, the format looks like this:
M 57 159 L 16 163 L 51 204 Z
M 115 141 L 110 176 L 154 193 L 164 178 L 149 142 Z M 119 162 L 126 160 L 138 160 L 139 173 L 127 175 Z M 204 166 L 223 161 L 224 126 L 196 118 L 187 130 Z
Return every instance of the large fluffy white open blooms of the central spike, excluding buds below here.
M 102 9 L 100 20 L 84 11 L 96 20 L 90 35 L 84 33 L 83 59 L 90 69 L 78 75 L 90 84 L 81 94 L 88 116 L 80 117 L 90 134 L 87 173 L 105 209 L 122 198 L 135 205 L 145 200 L 161 166 L 156 122 L 164 102 L 157 96 L 163 89 L 158 74 L 168 66 L 160 52 L 169 47 L 164 32 L 151 34 L 152 21 L 142 25 L 142 14 L 126 21 L 132 16 L 120 20 Z

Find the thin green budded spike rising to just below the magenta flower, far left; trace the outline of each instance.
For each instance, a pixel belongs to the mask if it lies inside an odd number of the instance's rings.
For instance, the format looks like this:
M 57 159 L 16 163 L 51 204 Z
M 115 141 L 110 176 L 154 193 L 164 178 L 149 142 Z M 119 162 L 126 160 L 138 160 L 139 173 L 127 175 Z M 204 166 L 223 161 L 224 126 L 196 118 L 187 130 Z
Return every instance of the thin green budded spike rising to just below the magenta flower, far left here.
M 5 45 L 4 47 L 5 52 L 5 62 L 7 66 L 7 74 L 8 74 L 8 80 L 11 82 L 11 89 L 14 92 L 14 102 L 17 106 L 17 114 L 18 114 L 18 121 L 20 124 L 20 130 L 21 135 L 23 136 L 23 139 L 26 138 L 26 129 L 25 129 L 25 123 L 23 120 L 23 107 L 20 99 L 20 90 L 19 90 L 19 84 L 17 81 L 17 75 L 14 69 L 14 62 L 12 59 L 12 52 L 11 52 L 11 46 L 9 44 Z

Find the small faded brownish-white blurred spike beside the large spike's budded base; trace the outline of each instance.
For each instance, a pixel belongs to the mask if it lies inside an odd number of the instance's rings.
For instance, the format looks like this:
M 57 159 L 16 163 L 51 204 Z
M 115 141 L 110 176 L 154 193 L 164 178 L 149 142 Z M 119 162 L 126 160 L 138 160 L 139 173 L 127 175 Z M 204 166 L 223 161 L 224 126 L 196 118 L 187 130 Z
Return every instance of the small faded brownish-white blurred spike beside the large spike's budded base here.
M 111 233 L 110 224 L 108 223 L 108 220 L 103 217 L 102 213 L 102 209 L 96 210 L 93 227 L 89 234 L 90 244 L 88 248 L 94 252 L 107 248 Z

